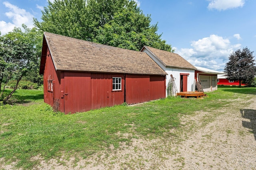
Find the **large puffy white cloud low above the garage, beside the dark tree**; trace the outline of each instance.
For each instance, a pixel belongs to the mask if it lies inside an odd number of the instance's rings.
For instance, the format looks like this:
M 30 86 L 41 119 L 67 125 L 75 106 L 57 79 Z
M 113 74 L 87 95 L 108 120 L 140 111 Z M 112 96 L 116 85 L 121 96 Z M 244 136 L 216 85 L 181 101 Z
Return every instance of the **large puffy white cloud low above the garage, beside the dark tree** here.
M 232 44 L 229 39 L 210 35 L 198 41 L 192 41 L 192 48 L 176 49 L 184 59 L 194 66 L 223 71 L 229 55 L 240 48 L 241 44 Z

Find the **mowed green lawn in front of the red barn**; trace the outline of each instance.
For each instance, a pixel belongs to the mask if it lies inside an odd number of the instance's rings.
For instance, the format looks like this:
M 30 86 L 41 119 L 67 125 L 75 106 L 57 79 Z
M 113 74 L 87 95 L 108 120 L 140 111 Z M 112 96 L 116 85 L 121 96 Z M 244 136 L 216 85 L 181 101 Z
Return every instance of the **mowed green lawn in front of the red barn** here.
M 82 158 L 133 138 L 167 139 L 182 128 L 180 117 L 196 111 L 224 108 L 232 100 L 250 100 L 256 88 L 219 86 L 208 97 L 166 98 L 137 106 L 114 106 L 65 115 L 43 101 L 43 90 L 17 90 L 10 104 L 0 104 L 0 164 L 17 162 L 32 169 L 46 160 L 79 154 Z M 1 162 L 2 160 L 2 162 Z

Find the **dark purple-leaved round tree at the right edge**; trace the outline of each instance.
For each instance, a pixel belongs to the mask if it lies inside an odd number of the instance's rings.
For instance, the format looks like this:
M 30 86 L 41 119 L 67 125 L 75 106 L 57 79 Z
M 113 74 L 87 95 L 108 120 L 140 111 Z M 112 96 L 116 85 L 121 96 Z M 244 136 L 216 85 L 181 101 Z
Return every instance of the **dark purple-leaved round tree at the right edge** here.
M 250 51 L 247 47 L 238 49 L 229 56 L 229 62 L 226 63 L 224 72 L 228 80 L 237 81 L 241 86 L 241 82 L 251 84 L 254 76 L 256 76 L 256 66 L 253 51 Z

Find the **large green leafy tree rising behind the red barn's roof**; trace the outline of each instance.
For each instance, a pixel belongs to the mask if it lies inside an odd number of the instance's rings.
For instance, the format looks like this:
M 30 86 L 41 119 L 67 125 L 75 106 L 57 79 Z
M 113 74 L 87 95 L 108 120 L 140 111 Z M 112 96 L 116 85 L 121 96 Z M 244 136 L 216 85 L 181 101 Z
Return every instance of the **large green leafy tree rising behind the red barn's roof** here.
M 144 45 L 174 51 L 130 0 L 55 0 L 34 24 L 42 31 L 139 51 Z

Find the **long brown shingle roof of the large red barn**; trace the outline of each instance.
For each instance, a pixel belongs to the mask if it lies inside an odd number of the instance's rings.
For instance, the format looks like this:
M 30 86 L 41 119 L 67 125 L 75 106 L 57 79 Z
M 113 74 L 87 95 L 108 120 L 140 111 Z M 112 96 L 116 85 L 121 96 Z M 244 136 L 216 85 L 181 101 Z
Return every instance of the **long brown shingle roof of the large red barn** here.
M 166 75 L 146 53 L 44 33 L 56 70 Z

